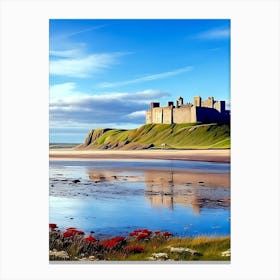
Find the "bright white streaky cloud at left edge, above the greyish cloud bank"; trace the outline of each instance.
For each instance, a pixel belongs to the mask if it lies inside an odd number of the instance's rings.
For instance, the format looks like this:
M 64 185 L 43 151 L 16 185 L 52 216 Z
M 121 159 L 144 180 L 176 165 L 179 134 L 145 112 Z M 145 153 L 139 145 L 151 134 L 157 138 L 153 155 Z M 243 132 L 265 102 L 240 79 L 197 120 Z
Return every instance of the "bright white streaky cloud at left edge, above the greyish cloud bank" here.
M 121 53 L 101 53 L 81 58 L 51 60 L 50 74 L 85 78 L 92 73 L 111 67 L 121 55 Z

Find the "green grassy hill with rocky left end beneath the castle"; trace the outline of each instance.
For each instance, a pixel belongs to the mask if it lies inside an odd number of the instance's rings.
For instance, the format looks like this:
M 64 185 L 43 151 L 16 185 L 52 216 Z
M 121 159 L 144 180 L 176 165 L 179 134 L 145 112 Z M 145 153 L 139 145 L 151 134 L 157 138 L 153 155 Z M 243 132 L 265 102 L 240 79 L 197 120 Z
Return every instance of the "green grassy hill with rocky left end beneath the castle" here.
M 76 149 L 230 148 L 230 126 L 146 124 L 137 129 L 93 129 Z

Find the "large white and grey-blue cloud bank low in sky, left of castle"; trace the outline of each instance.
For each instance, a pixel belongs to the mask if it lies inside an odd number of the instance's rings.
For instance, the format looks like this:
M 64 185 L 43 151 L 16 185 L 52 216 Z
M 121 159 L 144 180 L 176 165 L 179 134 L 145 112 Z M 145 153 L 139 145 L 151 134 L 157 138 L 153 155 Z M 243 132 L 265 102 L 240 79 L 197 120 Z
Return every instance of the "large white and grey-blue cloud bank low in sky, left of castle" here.
M 149 103 L 169 95 L 151 89 L 132 93 L 88 94 L 78 92 L 74 83 L 54 85 L 50 90 L 53 96 L 50 100 L 52 125 L 57 122 L 91 123 L 92 126 L 108 123 L 141 124 L 145 122 L 144 112 Z

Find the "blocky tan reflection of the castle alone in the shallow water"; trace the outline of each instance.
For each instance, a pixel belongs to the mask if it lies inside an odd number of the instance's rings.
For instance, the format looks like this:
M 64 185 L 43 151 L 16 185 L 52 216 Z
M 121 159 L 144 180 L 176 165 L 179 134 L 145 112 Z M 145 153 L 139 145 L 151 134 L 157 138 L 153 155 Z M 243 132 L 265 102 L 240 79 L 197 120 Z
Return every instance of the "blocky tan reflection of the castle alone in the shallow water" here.
M 144 175 L 145 196 L 155 207 L 172 210 L 181 205 L 199 215 L 203 207 L 229 206 L 229 174 L 147 171 Z

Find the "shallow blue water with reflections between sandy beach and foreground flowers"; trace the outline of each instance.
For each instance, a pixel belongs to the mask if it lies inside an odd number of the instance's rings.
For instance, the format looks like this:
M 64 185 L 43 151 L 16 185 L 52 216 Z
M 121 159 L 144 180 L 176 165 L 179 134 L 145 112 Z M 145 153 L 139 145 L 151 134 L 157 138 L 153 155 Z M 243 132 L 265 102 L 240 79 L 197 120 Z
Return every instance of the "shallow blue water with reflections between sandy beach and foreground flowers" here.
M 53 161 L 50 222 L 97 237 L 137 228 L 228 235 L 229 169 L 226 163 L 175 160 Z

